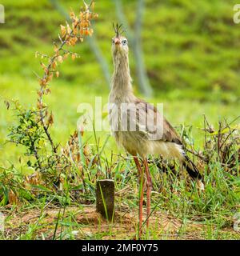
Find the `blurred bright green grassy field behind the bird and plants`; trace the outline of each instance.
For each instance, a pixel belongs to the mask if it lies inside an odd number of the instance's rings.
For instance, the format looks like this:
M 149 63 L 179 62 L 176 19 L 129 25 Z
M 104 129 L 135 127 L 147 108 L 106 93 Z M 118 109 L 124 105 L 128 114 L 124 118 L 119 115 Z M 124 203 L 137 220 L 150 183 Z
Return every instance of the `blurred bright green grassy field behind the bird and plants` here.
M 66 11 L 78 12 L 82 1 L 59 1 Z M 122 1 L 130 27 L 134 26 L 137 1 Z M 17 162 L 22 149 L 5 144 L 14 112 L 6 110 L 4 99 L 17 98 L 24 106 L 36 101 L 42 74 L 36 51 L 50 54 L 58 38 L 59 25 L 66 18 L 50 1 L 3 0 L 6 23 L 0 24 L 0 165 Z M 174 126 L 194 126 L 197 146 L 202 145 L 202 114 L 216 124 L 219 118 L 232 120 L 240 104 L 240 24 L 234 24 L 234 1 L 228 0 L 146 0 L 142 19 L 142 51 L 146 72 L 154 89 L 150 102 L 163 102 L 166 118 Z M 114 1 L 96 1 L 99 18 L 94 36 L 110 73 L 112 22 L 118 22 Z M 60 77 L 51 83 L 46 97 L 54 112 L 54 138 L 64 145 L 76 128 L 78 104 L 94 103 L 95 96 L 107 102 L 109 86 L 89 43 L 74 48 L 81 58 L 67 60 Z M 138 90 L 135 62 L 130 47 L 130 68 L 134 91 Z M 101 135 L 103 143 L 106 134 Z M 108 148 L 114 149 L 110 138 Z

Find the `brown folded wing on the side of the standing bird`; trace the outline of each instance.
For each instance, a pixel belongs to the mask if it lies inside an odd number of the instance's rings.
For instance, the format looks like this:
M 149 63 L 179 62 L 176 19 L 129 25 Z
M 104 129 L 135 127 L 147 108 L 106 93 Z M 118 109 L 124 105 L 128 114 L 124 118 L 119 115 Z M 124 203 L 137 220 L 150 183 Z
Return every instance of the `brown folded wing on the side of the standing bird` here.
M 182 145 L 181 138 L 174 127 L 155 106 L 138 98 L 135 103 L 139 110 L 139 124 L 143 127 L 146 123 L 146 130 L 150 138 Z

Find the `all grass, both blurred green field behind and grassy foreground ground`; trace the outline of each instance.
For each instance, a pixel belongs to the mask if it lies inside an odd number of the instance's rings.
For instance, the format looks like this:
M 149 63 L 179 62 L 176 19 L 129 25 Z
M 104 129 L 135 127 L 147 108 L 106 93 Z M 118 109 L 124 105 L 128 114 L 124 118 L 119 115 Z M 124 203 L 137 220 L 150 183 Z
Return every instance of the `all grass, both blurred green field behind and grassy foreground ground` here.
M 70 6 L 77 10 L 77 1 L 60 2 L 67 10 Z M 134 1 L 123 2 L 132 26 Z M 27 107 L 35 104 L 38 82 L 34 71 L 38 73 L 40 69 L 34 53 L 50 53 L 51 42 L 57 38 L 57 28 L 65 18 L 46 0 L 12 0 L 2 4 L 6 6 L 6 24 L 0 25 L 0 211 L 6 217 L 6 232 L 0 233 L 0 238 L 134 238 L 138 233 L 138 174 L 132 159 L 117 148 L 109 133 L 85 133 L 82 145 L 89 147 L 90 163 L 85 162 L 83 177 L 77 167 L 71 173 L 63 171 L 62 190 L 59 184 L 56 189 L 38 176 L 31 177 L 35 171 L 26 165 L 24 149 L 6 143 L 8 129 L 16 118 L 13 111 L 6 110 L 3 100 L 17 98 Z M 192 126 L 187 134 L 197 150 L 203 150 L 205 145 L 204 132 L 199 129 L 203 127 L 203 114 L 218 130 L 220 119 L 230 122 L 240 112 L 239 25 L 232 22 L 232 5 L 231 1 L 223 0 L 146 1 L 142 45 L 154 87 L 154 98 L 149 101 L 163 102 L 166 118 L 178 130 L 181 124 L 186 130 Z M 98 2 L 96 10 L 100 14 L 95 24 L 96 38 L 112 70 L 109 49 L 111 21 L 116 20 L 114 4 Z M 102 96 L 104 105 L 109 90 L 89 46 L 76 46 L 76 51 L 82 58 L 66 61 L 60 67 L 60 78 L 51 84 L 52 94 L 46 98 L 54 112 L 51 132 L 62 147 L 76 129 L 78 105 L 93 104 L 95 96 Z M 138 94 L 134 66 L 130 54 L 134 91 Z M 82 157 L 82 146 L 80 150 Z M 94 163 L 96 156 L 101 166 Z M 150 231 L 143 238 L 240 238 L 233 230 L 234 214 L 240 206 L 239 164 L 236 163 L 237 173 L 232 174 L 220 164 L 215 151 L 211 159 L 206 165 L 194 158 L 204 174 L 203 194 L 185 174 L 166 175 L 156 165 L 150 166 L 154 211 Z M 112 224 L 94 211 L 94 186 L 98 178 L 113 178 L 115 182 L 116 216 Z

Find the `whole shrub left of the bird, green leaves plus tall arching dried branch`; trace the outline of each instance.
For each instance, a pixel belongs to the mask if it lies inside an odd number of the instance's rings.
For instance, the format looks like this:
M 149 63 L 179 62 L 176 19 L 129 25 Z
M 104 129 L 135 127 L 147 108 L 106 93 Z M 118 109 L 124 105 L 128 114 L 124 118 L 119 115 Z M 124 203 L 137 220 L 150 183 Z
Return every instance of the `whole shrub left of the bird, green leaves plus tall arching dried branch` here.
M 12 178 L 6 179 L 6 171 L 2 172 L 0 185 L 2 184 L 3 190 L 6 189 L 5 195 L 7 195 L 4 196 L 0 186 L 3 204 L 19 202 L 21 199 L 19 187 L 22 190 L 30 190 L 33 194 L 39 193 L 39 186 L 46 190 L 54 189 L 58 193 L 65 189 L 66 180 L 67 186 L 71 186 L 72 190 L 78 186 L 78 190 L 87 193 L 83 166 L 86 167 L 90 161 L 90 150 L 87 145 L 80 146 L 79 144 L 79 136 L 83 134 L 78 134 L 76 131 L 70 136 L 66 147 L 60 150 L 60 142 L 54 142 L 50 134 L 50 128 L 54 124 L 54 114 L 44 102 L 44 96 L 50 94 L 50 82 L 54 76 L 59 77 L 58 66 L 66 58 L 71 57 L 74 60 L 79 57 L 77 53 L 70 50 L 70 47 L 78 42 L 82 43 L 85 37 L 94 33 L 91 21 L 98 18 L 98 14 L 93 12 L 94 1 L 90 4 L 84 2 L 84 5 L 79 14 L 75 14 L 73 10 L 70 11 L 71 24 L 66 22 L 65 26 L 60 26 L 58 42 L 54 42 L 54 53 L 51 56 L 39 52 L 35 54 L 36 57 L 41 58 L 43 70 L 42 76 L 36 74 L 39 82 L 37 106 L 26 109 L 18 101 L 11 102 L 16 113 L 17 124 L 10 127 L 8 138 L 16 146 L 24 146 L 27 166 L 33 173 L 22 175 L 22 177 L 18 175 L 17 185 L 12 175 L 10 175 Z M 10 102 L 5 103 L 9 109 Z M 22 162 L 22 158 L 19 158 L 19 161 Z M 94 159 L 91 165 L 94 166 Z M 36 189 L 33 191 L 33 186 L 38 186 L 37 191 Z

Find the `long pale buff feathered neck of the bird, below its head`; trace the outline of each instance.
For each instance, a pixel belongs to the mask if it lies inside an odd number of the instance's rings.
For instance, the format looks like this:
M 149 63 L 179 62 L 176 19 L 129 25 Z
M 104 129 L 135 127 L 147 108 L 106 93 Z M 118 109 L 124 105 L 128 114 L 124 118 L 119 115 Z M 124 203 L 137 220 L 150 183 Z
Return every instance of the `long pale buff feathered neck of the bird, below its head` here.
M 127 54 L 114 56 L 114 74 L 112 76 L 110 94 L 113 98 L 126 98 L 126 96 L 133 95 Z

